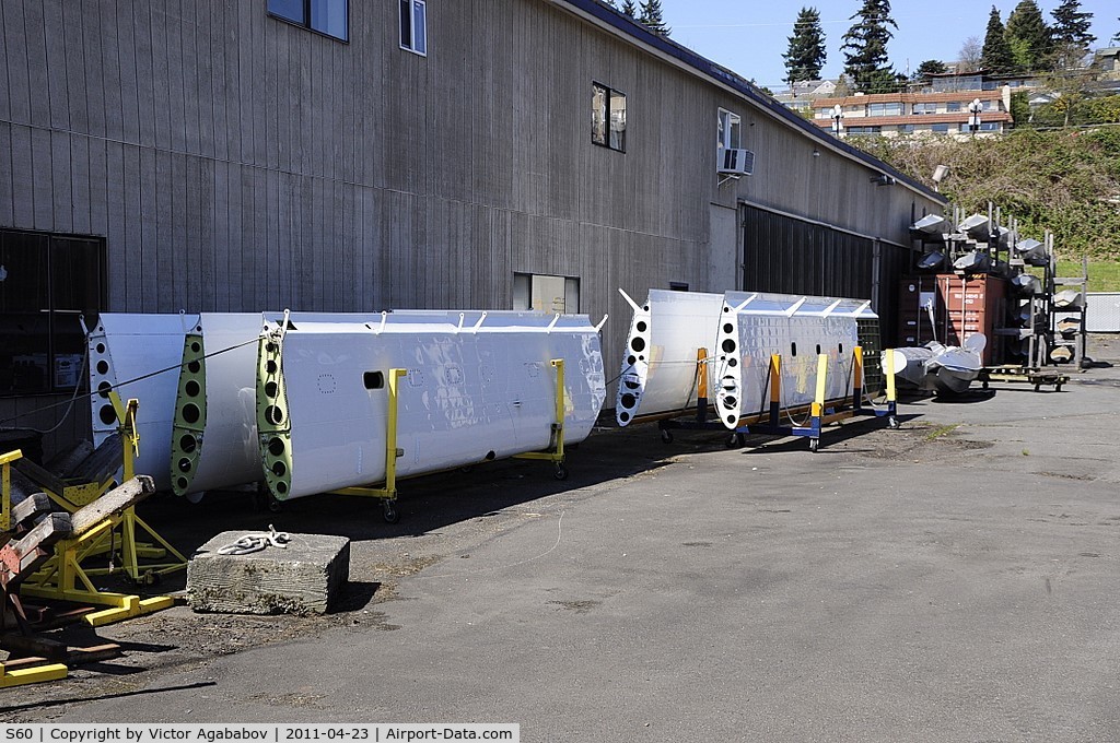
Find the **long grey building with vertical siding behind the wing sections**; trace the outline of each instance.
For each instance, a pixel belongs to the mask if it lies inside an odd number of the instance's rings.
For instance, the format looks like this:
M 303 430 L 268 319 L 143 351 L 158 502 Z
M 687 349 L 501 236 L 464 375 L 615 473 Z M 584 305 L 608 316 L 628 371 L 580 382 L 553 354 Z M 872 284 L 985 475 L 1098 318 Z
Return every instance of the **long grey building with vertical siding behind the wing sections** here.
M 0 8 L 0 426 L 58 421 L 82 312 L 610 313 L 613 368 L 618 288 L 889 312 L 943 208 L 595 0 Z

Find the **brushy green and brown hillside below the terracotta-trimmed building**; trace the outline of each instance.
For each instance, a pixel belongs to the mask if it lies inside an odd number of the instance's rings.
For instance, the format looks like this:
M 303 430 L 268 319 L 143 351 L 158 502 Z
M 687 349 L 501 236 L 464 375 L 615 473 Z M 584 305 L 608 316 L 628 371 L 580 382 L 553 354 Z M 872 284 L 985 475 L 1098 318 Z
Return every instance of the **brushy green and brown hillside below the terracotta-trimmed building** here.
M 848 141 L 931 187 L 934 168 L 949 166 L 941 191 L 952 204 L 987 214 L 991 201 L 1005 223 L 1018 219 L 1024 237 L 1042 239 L 1049 229 L 1061 258 L 1120 261 L 1120 126 Z

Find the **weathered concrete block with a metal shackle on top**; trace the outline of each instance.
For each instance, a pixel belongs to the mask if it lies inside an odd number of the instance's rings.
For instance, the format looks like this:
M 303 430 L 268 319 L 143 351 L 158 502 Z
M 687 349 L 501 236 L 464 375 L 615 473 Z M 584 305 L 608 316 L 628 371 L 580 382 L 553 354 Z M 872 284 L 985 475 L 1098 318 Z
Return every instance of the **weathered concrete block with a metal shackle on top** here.
M 187 564 L 187 602 L 199 612 L 323 614 L 349 580 L 349 539 L 292 534 L 287 547 L 248 555 L 218 549 L 245 536 L 223 532 Z

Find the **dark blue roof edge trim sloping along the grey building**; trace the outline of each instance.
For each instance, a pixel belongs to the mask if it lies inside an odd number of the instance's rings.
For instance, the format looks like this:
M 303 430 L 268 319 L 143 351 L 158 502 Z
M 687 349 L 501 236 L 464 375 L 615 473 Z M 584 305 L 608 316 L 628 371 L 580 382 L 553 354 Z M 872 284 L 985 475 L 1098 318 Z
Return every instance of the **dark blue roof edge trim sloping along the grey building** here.
M 850 144 L 832 137 L 816 124 L 803 119 L 790 109 L 785 107 L 771 96 L 759 91 L 756 86 L 743 78 L 740 75 L 722 67 L 707 57 L 689 49 L 685 46 L 671 41 L 665 37 L 657 36 L 648 28 L 634 21 L 618 11 L 597 2 L 597 0 L 544 0 L 557 6 L 561 10 L 579 16 L 598 28 L 613 34 L 643 51 L 657 57 L 662 62 L 684 70 L 689 74 L 702 77 L 716 86 L 724 88 L 746 98 L 764 113 L 771 115 L 778 122 L 795 129 L 801 133 L 816 140 L 820 147 L 824 147 L 841 157 L 855 160 L 879 173 L 892 176 L 900 186 L 908 188 L 926 198 L 948 204 L 945 197 L 937 191 L 920 184 L 908 176 L 896 170 L 886 162 L 874 158 L 870 154 L 858 150 Z

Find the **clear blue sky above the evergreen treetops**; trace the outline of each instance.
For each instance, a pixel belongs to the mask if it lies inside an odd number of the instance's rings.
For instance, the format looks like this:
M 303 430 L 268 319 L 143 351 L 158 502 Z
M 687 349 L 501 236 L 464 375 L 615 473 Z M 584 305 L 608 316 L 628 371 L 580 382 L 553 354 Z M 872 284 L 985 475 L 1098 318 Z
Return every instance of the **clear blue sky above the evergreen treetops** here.
M 1019 0 L 896 0 L 890 15 L 898 29 L 887 46 L 890 63 L 898 72 L 911 72 L 926 59 L 952 62 L 964 40 L 977 36 L 983 43 L 991 6 L 1007 16 Z M 782 54 L 788 47 L 793 21 L 802 7 L 816 8 L 821 13 L 828 59 L 824 77 L 836 77 L 843 68 L 841 37 L 851 28 L 850 17 L 862 0 L 818 0 L 816 2 L 748 2 L 746 0 L 662 0 L 665 22 L 672 27 L 671 38 L 699 54 L 734 69 L 759 85 L 777 92 L 785 77 Z M 1061 0 L 1038 0 L 1047 23 Z M 1081 9 L 1093 13 L 1092 34 L 1095 46 L 1108 46 L 1120 30 L 1120 2 L 1117 0 L 1082 0 Z M 894 30 L 894 29 L 892 29 Z

